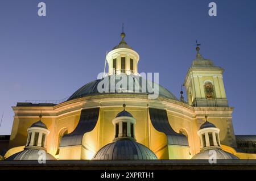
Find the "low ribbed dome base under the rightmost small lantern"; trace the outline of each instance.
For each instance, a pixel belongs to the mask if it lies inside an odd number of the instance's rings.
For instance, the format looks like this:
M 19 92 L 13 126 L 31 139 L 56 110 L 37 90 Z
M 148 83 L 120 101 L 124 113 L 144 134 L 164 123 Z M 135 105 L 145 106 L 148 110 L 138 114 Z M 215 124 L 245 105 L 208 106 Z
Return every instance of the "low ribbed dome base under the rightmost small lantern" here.
M 235 155 L 221 149 L 207 149 L 204 151 L 200 151 L 200 153 L 197 153 L 191 159 L 209 159 L 209 157 L 212 156 L 212 153 L 209 154 L 210 150 L 216 151 L 216 156 L 217 156 L 216 159 L 239 159 Z

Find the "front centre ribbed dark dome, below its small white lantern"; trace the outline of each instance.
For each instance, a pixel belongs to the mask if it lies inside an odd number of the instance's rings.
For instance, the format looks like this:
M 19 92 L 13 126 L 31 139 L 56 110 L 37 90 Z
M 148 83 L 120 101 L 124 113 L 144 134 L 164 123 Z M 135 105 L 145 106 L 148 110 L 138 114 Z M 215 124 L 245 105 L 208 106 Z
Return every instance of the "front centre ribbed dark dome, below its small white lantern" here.
M 158 159 L 153 151 L 146 146 L 130 139 L 121 139 L 103 146 L 93 159 L 127 160 L 127 159 Z

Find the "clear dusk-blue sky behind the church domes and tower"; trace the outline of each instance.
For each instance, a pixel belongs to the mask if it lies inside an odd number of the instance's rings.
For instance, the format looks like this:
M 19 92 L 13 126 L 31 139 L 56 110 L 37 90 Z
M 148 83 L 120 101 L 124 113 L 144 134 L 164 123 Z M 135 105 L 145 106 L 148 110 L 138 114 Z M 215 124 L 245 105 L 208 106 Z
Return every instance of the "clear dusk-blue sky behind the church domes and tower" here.
M 39 17 L 45 2 L 47 16 Z M 217 16 L 208 15 L 209 2 Z M 225 69 L 236 134 L 256 134 L 256 1 L 13 1 L 0 2 L 0 134 L 10 134 L 11 106 L 26 99 L 63 99 L 104 70 L 106 50 L 126 42 L 139 72 L 159 72 L 179 97 L 200 53 Z

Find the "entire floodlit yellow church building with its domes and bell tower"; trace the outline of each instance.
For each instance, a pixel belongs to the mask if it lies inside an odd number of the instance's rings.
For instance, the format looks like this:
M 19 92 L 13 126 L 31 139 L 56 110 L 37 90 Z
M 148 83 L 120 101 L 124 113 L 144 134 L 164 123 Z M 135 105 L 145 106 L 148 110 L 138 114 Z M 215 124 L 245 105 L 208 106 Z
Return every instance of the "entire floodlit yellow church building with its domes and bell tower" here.
M 142 90 L 139 54 L 127 45 L 125 33 L 121 33 L 121 38 L 106 56 L 109 72 L 105 78 L 110 80 L 115 75 L 115 87 L 119 78 L 126 77 L 133 83 L 133 89 Z M 213 146 L 211 149 L 230 155 L 225 157 L 228 159 L 255 159 L 256 154 L 236 151 L 233 107 L 229 107 L 226 98 L 222 80 L 224 70 L 203 58 L 199 47 L 196 50 L 196 59 L 184 81 L 187 102 L 183 97 L 177 99 L 160 85 L 156 99 L 149 98 L 150 90 L 147 89 L 133 92 L 121 87 L 121 90 L 99 92 L 98 87 L 104 79 L 98 79 L 82 86 L 60 104 L 17 103 L 13 107 L 15 116 L 9 150 L 4 158 L 13 158 L 14 154 L 36 146 L 47 150 L 55 159 L 111 159 L 114 156 L 117 159 L 196 159 L 205 147 Z M 119 117 L 117 115 L 124 111 L 124 102 L 127 113 Z M 46 127 L 31 129 L 41 114 Z M 132 116 L 127 116 L 129 114 Z M 204 123 L 215 128 L 200 129 Z M 115 151 L 124 149 L 118 146 L 122 145 L 118 142 L 119 137 L 129 140 L 126 140 L 126 144 L 131 145 L 128 149 L 146 151 L 148 157 L 137 156 L 136 151 L 133 154 Z M 109 144 L 113 148 L 109 148 Z M 141 146 L 138 148 L 137 144 Z M 117 153 L 125 156 L 109 157 L 102 151 L 107 147 L 112 156 Z

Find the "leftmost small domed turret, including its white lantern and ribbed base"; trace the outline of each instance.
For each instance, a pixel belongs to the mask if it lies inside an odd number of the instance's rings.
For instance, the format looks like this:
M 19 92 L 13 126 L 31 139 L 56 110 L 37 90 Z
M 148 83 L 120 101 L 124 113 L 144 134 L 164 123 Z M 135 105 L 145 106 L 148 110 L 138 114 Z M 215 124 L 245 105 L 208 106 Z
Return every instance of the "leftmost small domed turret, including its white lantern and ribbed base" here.
M 41 121 L 42 115 L 39 117 L 39 121 L 27 129 L 28 137 L 24 150 L 11 155 L 7 160 L 55 159 L 55 157 L 46 152 L 46 140 L 49 130 L 46 124 Z M 42 157 L 42 154 L 45 154 L 45 157 Z

